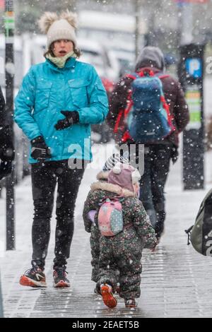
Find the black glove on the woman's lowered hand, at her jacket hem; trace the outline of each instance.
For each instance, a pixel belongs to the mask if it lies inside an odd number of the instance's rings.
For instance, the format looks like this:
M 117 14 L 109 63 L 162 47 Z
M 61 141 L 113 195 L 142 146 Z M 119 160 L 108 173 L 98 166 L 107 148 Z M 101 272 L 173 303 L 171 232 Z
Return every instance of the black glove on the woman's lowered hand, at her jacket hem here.
M 31 157 L 37 160 L 45 160 L 51 158 L 51 150 L 46 145 L 45 140 L 42 136 L 37 136 L 31 141 L 32 150 Z

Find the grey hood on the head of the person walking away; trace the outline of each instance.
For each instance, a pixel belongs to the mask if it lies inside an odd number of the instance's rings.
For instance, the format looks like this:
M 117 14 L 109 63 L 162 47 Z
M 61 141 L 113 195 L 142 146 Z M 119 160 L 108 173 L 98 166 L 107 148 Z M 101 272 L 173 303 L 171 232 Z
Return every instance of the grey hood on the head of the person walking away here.
M 139 57 L 136 60 L 136 71 L 143 67 L 155 67 L 160 69 L 160 71 L 165 70 L 165 59 L 163 52 L 159 47 L 155 46 L 146 46 L 143 47 Z

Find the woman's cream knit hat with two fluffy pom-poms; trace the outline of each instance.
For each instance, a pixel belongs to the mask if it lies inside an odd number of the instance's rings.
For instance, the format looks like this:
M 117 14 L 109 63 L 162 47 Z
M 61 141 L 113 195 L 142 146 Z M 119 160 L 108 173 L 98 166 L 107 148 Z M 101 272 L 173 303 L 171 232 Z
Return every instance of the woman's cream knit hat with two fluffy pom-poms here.
M 57 13 L 47 11 L 39 20 L 40 30 L 47 34 L 47 49 L 56 40 L 71 40 L 74 46 L 76 42 L 76 14 L 64 11 L 60 16 Z

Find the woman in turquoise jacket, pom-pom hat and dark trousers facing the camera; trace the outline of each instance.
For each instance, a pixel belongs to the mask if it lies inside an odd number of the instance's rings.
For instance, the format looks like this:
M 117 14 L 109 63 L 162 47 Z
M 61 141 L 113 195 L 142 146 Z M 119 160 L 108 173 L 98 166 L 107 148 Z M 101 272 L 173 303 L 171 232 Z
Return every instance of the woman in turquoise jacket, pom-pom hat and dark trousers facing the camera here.
M 54 286 L 69 287 L 66 260 L 73 237 L 73 211 L 90 152 L 90 124 L 105 120 L 107 95 L 93 66 L 76 61 L 76 16 L 45 13 L 46 61 L 32 66 L 16 97 L 15 121 L 30 139 L 33 202 L 32 268 L 20 284 L 46 287 L 45 258 L 57 189 Z

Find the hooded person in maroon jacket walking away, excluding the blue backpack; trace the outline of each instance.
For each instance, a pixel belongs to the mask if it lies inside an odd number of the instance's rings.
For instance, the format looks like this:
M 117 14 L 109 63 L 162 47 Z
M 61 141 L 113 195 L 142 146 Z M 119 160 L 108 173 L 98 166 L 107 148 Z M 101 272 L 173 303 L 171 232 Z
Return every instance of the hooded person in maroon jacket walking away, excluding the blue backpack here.
M 170 160 L 176 162 L 179 146 L 179 133 L 181 133 L 189 122 L 189 109 L 184 98 L 184 93 L 179 82 L 170 75 L 165 74 L 165 61 L 163 52 L 158 47 L 144 47 L 141 49 L 135 66 L 136 75 L 139 73 L 152 73 L 160 78 L 168 105 L 172 131 L 158 141 L 145 143 L 144 173 L 140 182 L 140 199 L 151 223 L 155 228 L 158 239 L 163 233 L 165 222 L 165 196 L 164 188 L 167 175 L 170 170 Z M 114 135 L 117 143 L 138 143 L 122 129 L 125 124 L 120 118 L 121 112 L 129 105 L 129 94 L 132 90 L 134 78 L 131 75 L 124 76 L 115 85 L 110 97 L 110 113 L 107 122 L 117 133 Z M 121 121 L 120 121 L 121 119 Z M 120 136 L 119 129 L 122 131 Z M 142 128 L 145 130 L 144 128 Z

